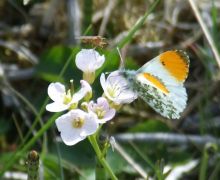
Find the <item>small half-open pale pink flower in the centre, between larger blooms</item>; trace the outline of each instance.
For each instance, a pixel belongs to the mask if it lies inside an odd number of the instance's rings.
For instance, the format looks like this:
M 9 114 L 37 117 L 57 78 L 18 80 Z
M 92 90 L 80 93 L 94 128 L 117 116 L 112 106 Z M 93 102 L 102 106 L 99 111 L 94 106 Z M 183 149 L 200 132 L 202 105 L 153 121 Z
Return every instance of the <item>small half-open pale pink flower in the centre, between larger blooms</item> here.
M 88 105 L 88 110 L 97 115 L 98 122 L 101 124 L 111 120 L 115 116 L 115 109 L 109 107 L 109 103 L 104 97 L 98 98 L 97 103 L 91 101 Z

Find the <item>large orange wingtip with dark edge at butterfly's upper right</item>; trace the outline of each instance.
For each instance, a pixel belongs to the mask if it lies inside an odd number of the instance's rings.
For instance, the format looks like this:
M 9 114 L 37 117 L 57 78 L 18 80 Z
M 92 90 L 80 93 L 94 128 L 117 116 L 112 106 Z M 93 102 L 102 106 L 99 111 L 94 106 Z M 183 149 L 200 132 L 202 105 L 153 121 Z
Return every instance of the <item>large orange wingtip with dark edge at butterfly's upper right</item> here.
M 189 58 L 184 51 L 166 51 L 159 58 L 161 64 L 175 79 L 185 81 L 189 73 Z

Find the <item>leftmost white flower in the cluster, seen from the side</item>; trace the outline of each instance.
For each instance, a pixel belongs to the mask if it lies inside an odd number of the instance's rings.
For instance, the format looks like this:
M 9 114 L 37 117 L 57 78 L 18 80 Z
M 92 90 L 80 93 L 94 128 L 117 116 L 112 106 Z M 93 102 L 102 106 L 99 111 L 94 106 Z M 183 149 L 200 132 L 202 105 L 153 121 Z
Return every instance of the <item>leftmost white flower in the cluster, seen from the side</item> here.
M 90 97 L 92 88 L 90 85 L 81 80 L 81 89 L 71 95 L 71 91 L 67 90 L 63 84 L 56 82 L 51 83 L 48 87 L 48 95 L 54 101 L 46 106 L 47 111 L 60 112 L 67 109 L 74 109 L 77 107 L 78 102 L 84 97 Z

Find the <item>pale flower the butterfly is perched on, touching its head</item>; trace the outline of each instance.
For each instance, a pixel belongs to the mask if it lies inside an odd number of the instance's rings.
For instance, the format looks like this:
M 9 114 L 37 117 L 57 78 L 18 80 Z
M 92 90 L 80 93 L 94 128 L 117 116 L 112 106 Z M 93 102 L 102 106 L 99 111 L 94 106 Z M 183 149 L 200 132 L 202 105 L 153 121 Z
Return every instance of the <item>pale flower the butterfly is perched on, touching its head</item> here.
M 105 79 L 102 73 L 100 83 L 105 96 L 115 104 L 131 103 L 137 98 L 137 94 L 129 87 L 127 80 L 119 71 L 114 71 Z

